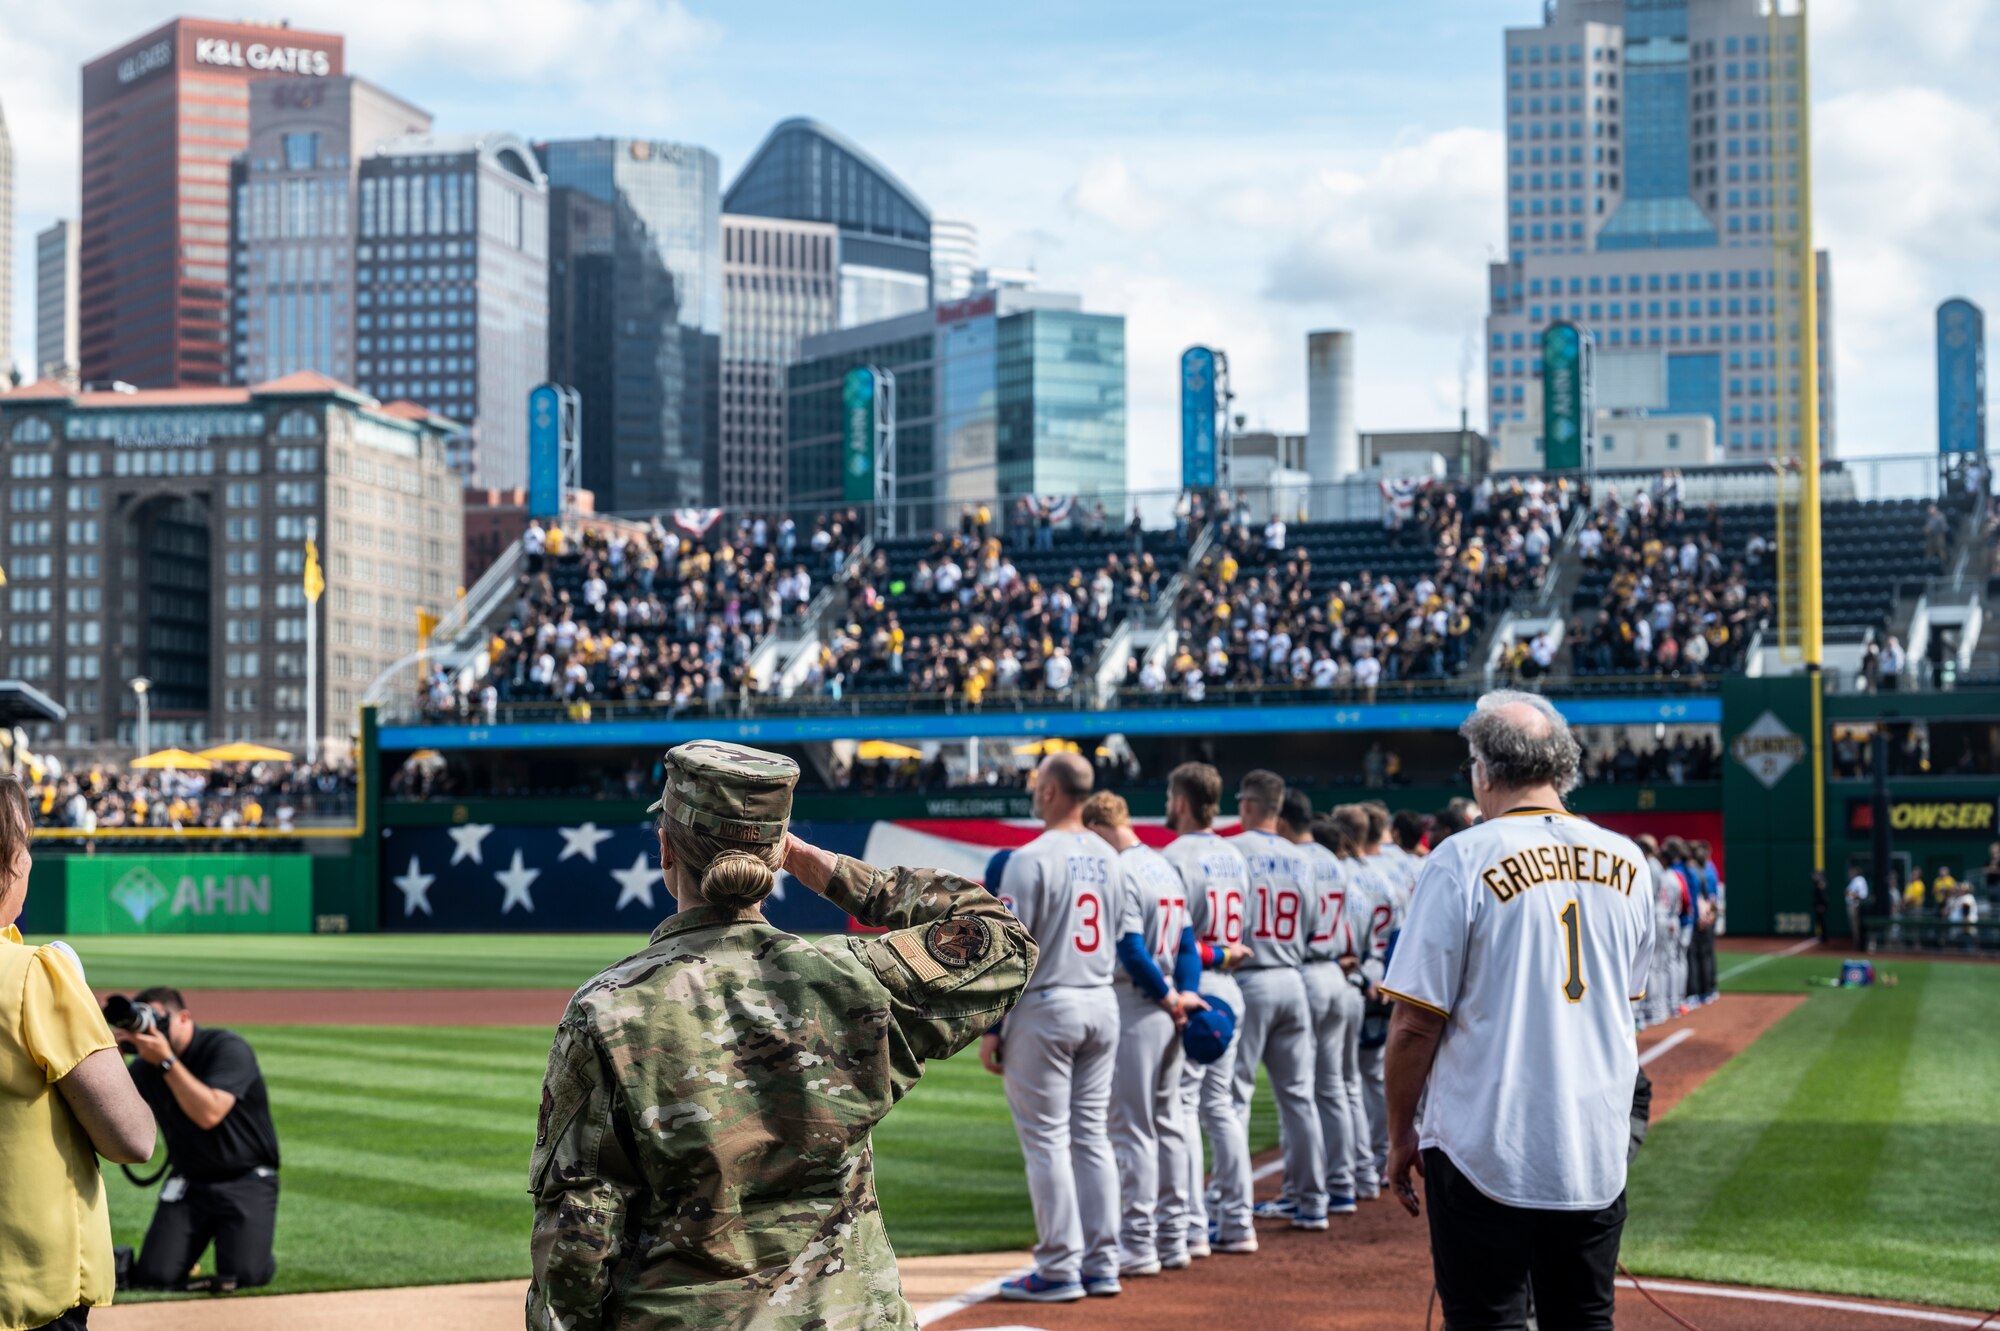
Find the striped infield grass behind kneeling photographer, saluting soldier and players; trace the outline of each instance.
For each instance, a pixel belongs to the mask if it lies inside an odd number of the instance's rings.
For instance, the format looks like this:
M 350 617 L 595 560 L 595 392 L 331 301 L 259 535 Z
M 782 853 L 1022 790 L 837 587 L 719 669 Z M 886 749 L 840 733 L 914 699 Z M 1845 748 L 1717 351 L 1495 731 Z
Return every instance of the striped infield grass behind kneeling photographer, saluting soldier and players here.
M 240 1029 L 270 1083 L 284 1153 L 270 1293 L 528 1273 L 528 1149 L 548 1031 Z M 1278 1139 L 1268 1101 L 1258 1101 L 1260 1147 Z M 136 1247 L 156 1195 L 110 1167 L 106 1181 L 116 1241 Z M 876 1131 L 876 1181 L 898 1253 L 1034 1243 L 1000 1081 L 970 1051 L 932 1063 Z

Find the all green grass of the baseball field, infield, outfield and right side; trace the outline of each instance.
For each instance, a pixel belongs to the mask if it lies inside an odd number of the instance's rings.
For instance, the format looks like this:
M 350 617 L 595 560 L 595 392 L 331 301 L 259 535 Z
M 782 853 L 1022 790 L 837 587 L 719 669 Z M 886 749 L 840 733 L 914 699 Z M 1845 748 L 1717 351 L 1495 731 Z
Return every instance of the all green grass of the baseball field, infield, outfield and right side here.
M 78 939 L 126 987 L 570 987 L 638 941 L 586 937 Z M 1872 991 L 1808 989 L 1826 957 L 1728 953 L 1732 991 L 1808 1001 L 1658 1123 L 1632 1175 L 1634 1271 L 2000 1305 L 2000 973 L 1886 961 Z M 526 1273 L 526 1161 L 548 1031 L 244 1027 L 284 1145 L 274 1289 Z M 1254 1137 L 1276 1141 L 1270 1097 Z M 1032 1217 L 1000 1083 L 932 1065 L 876 1133 L 908 1255 L 1024 1247 Z M 152 1209 L 116 1173 L 136 1243 Z M 940 1185 L 940 1179 L 950 1179 Z

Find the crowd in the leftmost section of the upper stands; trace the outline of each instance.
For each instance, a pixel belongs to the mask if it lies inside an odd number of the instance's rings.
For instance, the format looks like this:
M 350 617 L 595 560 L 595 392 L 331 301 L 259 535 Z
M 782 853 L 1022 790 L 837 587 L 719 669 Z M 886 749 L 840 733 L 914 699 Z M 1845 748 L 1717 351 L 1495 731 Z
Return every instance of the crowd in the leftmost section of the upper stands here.
M 426 709 L 492 715 L 500 703 L 624 699 L 716 709 L 750 685 L 744 667 L 766 628 L 806 614 L 848 572 L 862 536 L 854 510 L 810 530 L 766 516 L 724 524 L 720 510 L 680 510 L 670 524 L 586 522 L 574 536 L 534 522 L 486 677 L 468 697 L 432 675 Z

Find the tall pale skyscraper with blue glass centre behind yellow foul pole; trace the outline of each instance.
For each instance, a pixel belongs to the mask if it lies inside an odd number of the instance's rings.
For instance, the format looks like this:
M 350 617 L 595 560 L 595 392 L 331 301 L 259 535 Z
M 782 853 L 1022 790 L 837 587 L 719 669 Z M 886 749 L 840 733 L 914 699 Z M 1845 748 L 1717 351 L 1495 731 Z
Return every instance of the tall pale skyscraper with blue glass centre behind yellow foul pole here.
M 1792 452 L 1802 26 L 1768 0 L 1548 0 L 1506 32 L 1506 236 L 1488 432 L 1540 420 L 1540 338 L 1596 342 L 1598 408 L 1714 420 L 1716 460 Z M 1832 278 L 1816 256 L 1820 446 Z M 1792 292 L 1796 298 L 1796 290 Z M 1606 458 L 1604 462 L 1616 462 Z

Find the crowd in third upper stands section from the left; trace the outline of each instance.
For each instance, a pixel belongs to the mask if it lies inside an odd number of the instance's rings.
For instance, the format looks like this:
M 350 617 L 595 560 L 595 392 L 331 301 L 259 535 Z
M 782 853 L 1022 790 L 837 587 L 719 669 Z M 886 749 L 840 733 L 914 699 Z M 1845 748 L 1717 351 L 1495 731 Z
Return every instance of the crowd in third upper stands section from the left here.
M 1448 679 L 1486 618 L 1548 570 L 1576 502 L 1566 480 L 1538 478 L 1384 484 L 1382 498 L 1382 530 L 1362 542 L 1340 524 L 1258 524 L 1240 498 L 1222 504 L 1222 538 L 1174 608 L 1178 652 L 1134 660 L 1126 683 L 1200 701 L 1214 687 L 1372 697 L 1382 683 Z

